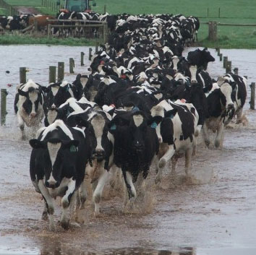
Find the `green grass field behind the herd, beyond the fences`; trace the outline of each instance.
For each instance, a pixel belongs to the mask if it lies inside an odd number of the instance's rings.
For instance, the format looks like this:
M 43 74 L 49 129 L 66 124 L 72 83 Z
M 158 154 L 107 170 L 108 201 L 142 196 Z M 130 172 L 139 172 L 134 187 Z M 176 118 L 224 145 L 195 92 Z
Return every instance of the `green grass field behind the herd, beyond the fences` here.
M 16 6 L 37 7 L 40 12 L 53 14 L 51 10 L 42 8 L 41 0 L 5 0 Z M 56 0 L 51 0 L 56 1 Z M 61 0 L 62 3 L 64 0 Z M 255 24 L 255 0 L 95 0 L 95 12 L 103 12 L 104 5 L 110 14 L 158 14 L 182 13 L 185 16 L 200 17 L 200 22 L 216 20 L 222 23 Z M 22 3 L 22 4 L 21 4 Z M 1 12 L 1 9 L 0 9 Z M 219 16 L 220 14 L 220 17 Z M 216 46 L 207 40 L 208 25 L 201 24 L 198 39 L 203 46 Z M 218 46 L 221 48 L 256 48 L 255 27 L 224 27 L 218 26 Z

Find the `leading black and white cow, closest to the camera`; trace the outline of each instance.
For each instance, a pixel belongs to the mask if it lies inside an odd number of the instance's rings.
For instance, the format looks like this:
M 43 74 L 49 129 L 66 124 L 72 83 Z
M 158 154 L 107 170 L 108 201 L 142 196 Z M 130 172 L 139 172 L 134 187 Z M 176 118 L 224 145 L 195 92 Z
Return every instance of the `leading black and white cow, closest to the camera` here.
M 53 199 L 61 196 L 61 226 L 67 229 L 69 204 L 85 176 L 85 134 L 82 129 L 70 128 L 57 120 L 42 128 L 38 139 L 31 139 L 30 145 L 30 178 L 45 201 L 43 218 L 49 215 L 50 230 L 55 230 Z

